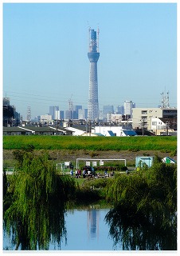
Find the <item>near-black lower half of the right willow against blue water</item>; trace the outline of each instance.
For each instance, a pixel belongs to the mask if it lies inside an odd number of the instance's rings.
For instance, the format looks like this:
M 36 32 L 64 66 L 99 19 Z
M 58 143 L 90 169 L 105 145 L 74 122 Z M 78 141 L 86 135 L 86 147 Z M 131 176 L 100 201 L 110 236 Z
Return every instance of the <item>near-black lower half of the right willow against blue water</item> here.
M 177 250 L 176 220 L 155 222 L 143 214 L 129 213 L 123 206 L 110 210 L 106 216 L 109 234 L 115 246 L 123 250 Z

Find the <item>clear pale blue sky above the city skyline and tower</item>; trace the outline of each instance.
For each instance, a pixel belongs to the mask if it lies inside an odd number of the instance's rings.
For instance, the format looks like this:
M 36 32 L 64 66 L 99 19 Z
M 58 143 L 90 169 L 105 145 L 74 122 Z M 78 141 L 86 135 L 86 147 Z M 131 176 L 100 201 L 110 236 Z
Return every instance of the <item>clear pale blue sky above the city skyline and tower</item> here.
M 176 3 L 4 3 L 3 97 L 26 118 L 49 106 L 88 108 L 88 28 L 100 28 L 104 105 L 177 106 Z

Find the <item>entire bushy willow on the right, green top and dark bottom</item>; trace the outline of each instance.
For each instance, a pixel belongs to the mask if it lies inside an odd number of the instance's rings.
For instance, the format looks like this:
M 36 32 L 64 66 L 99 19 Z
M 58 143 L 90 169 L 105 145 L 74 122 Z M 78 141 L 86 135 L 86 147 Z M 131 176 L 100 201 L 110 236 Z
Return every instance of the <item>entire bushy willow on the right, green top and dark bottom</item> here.
M 159 158 L 148 170 L 120 174 L 108 187 L 106 216 L 123 250 L 177 250 L 177 166 Z

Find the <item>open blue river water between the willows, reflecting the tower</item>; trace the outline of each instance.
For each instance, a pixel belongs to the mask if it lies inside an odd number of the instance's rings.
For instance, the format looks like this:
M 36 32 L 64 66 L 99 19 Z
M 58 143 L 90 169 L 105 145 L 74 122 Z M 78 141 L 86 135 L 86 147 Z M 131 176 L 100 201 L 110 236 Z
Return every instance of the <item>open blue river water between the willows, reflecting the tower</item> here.
M 122 250 L 113 247 L 108 235 L 109 227 L 104 222 L 109 209 L 88 206 L 86 210 L 68 210 L 65 214 L 66 239 L 62 238 L 61 248 L 55 243 L 49 244 L 49 250 Z M 3 250 L 14 250 L 10 238 L 4 234 Z M 21 248 L 19 248 L 21 250 Z

